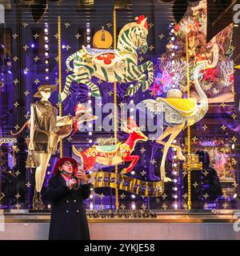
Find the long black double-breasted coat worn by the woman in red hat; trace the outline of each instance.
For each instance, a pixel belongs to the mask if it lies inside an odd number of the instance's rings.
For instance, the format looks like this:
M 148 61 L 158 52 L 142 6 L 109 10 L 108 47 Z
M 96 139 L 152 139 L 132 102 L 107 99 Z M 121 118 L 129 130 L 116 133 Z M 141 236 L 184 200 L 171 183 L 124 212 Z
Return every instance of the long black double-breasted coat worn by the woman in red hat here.
M 46 197 L 51 202 L 50 240 L 90 240 L 83 199 L 90 196 L 90 184 L 69 189 L 62 175 L 50 178 Z

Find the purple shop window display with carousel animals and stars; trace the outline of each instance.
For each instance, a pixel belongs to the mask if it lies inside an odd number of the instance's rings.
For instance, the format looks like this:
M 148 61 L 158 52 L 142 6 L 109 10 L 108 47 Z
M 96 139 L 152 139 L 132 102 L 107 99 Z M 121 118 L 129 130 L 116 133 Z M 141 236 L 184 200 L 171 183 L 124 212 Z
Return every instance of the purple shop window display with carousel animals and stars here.
M 239 209 L 238 26 L 207 39 L 206 1 L 178 22 L 154 1 L 71 5 L 12 4 L 0 25 L 1 209 L 50 211 L 62 156 L 90 179 L 90 214 Z M 56 90 L 44 127 L 42 86 Z M 52 143 L 40 182 L 39 136 Z

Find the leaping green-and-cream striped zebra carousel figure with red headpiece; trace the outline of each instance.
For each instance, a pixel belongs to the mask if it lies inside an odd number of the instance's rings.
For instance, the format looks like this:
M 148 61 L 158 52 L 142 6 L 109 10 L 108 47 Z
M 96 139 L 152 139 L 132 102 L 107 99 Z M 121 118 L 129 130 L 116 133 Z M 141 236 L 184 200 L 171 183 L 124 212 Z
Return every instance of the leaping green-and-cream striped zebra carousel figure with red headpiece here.
M 154 65 L 153 62 L 147 61 L 138 66 L 138 53 L 146 54 L 148 50 L 147 34 L 147 20 L 141 15 L 136 18 L 136 22 L 130 22 L 122 27 L 118 36 L 117 50 L 82 46 L 81 50 L 70 55 L 66 60 L 66 66 L 73 74 L 66 76 L 64 90 L 58 95 L 59 102 L 64 101 L 68 96 L 71 82 L 85 84 L 90 88 L 92 96 L 100 98 L 98 86 L 90 81 L 93 76 L 106 82 L 137 81 L 135 85 L 127 88 L 126 96 L 135 94 L 140 86 L 142 91 L 146 91 L 154 80 Z M 74 68 L 70 67 L 71 61 L 74 61 Z

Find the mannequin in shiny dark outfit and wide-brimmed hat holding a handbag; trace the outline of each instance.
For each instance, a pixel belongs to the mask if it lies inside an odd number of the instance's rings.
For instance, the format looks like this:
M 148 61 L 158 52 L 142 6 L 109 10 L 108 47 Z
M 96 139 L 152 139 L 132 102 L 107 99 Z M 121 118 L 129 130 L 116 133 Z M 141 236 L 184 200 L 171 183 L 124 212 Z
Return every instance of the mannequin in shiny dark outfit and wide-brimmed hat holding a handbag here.
M 41 199 L 42 185 L 51 154 L 55 154 L 58 146 L 57 109 L 49 102 L 50 95 L 55 90 L 57 86 L 39 86 L 34 98 L 41 100 L 31 104 L 30 108 L 30 143 L 26 167 L 36 168 L 33 200 L 33 208 L 36 210 L 44 208 Z

